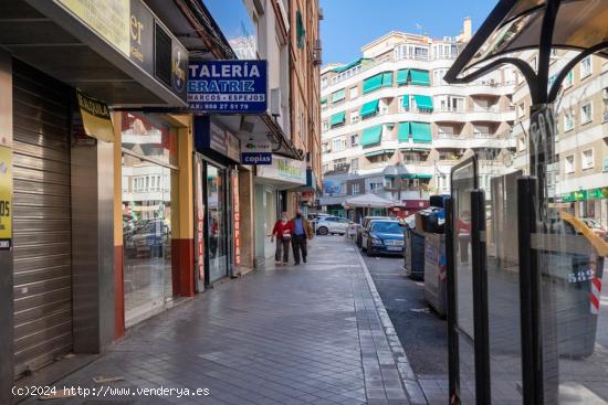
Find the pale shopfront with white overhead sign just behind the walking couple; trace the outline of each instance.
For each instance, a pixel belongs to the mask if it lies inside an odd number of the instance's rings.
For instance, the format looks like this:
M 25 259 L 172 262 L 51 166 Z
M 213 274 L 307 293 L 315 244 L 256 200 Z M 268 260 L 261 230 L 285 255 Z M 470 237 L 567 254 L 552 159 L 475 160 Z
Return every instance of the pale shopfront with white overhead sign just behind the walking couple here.
M 272 163 L 256 167 L 255 177 L 255 260 L 264 266 L 274 254 L 272 228 L 281 212 L 294 214 L 296 202 L 290 206 L 287 191 L 306 184 L 306 163 L 273 154 Z M 292 192 L 292 194 L 295 194 Z

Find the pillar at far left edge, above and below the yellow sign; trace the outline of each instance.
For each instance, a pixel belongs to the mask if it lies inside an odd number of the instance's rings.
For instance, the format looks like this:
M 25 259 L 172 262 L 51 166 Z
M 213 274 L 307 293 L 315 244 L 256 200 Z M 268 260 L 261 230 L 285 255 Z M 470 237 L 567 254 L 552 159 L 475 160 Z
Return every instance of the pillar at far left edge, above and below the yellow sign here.
M 0 148 L 12 145 L 12 61 L 0 50 Z M 10 179 L 12 182 L 12 179 Z M 1 185 L 1 184 L 0 184 Z M 12 251 L 0 251 L 0 404 L 13 396 L 13 266 Z

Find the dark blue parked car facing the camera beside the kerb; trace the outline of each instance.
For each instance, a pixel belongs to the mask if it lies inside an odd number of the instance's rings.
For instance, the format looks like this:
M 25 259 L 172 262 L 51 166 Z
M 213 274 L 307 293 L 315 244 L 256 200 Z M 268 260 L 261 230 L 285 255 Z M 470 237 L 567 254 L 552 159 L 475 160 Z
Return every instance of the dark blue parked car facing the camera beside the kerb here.
M 405 248 L 403 227 L 398 221 L 370 221 L 361 233 L 361 248 L 367 256 L 376 253 L 401 256 Z

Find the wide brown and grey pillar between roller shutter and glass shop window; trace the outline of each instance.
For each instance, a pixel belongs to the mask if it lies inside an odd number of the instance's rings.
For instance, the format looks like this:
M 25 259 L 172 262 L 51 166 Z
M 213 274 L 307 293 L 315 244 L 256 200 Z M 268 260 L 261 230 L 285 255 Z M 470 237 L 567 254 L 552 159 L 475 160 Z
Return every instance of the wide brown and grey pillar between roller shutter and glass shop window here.
M 114 143 L 75 143 L 72 279 L 75 353 L 101 353 L 115 338 Z

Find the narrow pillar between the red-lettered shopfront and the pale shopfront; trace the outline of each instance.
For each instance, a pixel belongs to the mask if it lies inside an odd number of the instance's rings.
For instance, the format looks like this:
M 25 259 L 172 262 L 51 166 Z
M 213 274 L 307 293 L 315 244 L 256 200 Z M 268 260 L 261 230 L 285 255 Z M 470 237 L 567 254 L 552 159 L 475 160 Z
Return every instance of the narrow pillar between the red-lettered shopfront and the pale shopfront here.
M 251 271 L 255 267 L 255 206 L 253 196 L 253 172 L 251 170 L 239 170 L 241 265 L 238 271 L 241 275 Z

